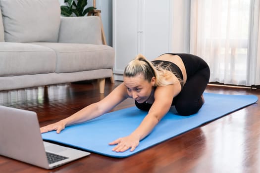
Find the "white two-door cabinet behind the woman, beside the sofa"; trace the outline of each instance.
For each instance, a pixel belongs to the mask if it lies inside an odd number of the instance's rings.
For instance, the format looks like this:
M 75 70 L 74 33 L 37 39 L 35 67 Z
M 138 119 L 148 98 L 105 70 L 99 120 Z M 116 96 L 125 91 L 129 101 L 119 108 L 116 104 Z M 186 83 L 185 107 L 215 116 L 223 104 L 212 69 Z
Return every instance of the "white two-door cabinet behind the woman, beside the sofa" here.
M 153 60 L 171 52 L 172 0 L 113 0 L 115 80 L 125 66 L 142 53 Z

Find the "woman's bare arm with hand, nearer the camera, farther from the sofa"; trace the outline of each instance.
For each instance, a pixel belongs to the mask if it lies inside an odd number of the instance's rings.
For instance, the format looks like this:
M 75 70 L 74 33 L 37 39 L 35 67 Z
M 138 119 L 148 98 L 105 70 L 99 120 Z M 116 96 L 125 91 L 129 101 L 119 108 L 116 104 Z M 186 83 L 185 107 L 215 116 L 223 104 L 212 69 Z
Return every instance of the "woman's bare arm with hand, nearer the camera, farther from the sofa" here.
M 155 101 L 147 116 L 139 127 L 129 136 L 116 139 L 109 143 L 110 145 L 117 144 L 117 146 L 113 148 L 113 151 L 124 152 L 129 148 L 131 148 L 130 151 L 133 151 L 139 145 L 139 141 L 145 138 L 169 111 L 172 99 L 180 92 L 180 89 L 179 85 L 157 87 L 155 91 Z

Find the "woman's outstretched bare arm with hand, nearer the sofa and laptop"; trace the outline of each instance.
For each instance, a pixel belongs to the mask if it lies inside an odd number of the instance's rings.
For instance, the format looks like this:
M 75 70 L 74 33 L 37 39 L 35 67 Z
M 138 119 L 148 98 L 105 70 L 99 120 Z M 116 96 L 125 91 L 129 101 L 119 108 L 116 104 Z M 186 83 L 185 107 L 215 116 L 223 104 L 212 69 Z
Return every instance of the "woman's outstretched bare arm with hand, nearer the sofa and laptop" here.
M 103 115 L 127 97 L 125 86 L 120 84 L 101 101 L 93 103 L 59 122 L 42 127 L 40 130 L 42 133 L 52 130 L 59 133 L 66 126 L 86 122 Z

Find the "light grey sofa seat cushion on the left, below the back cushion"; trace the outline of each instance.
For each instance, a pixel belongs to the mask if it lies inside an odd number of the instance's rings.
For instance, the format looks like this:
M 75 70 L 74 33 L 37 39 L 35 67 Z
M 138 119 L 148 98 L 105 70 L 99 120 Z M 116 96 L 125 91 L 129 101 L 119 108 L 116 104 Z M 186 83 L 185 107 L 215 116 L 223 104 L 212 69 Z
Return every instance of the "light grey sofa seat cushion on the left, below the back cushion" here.
M 52 73 L 55 52 L 41 45 L 0 43 L 0 76 Z

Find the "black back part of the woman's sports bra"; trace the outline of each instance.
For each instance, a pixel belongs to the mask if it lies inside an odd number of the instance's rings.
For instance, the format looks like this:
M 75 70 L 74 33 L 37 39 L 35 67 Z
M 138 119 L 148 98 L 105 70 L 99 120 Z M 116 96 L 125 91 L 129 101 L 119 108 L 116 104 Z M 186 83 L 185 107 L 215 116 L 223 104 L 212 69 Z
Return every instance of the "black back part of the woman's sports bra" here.
M 174 64 L 173 62 L 170 62 L 170 61 L 162 61 L 162 60 L 154 60 L 154 61 L 151 61 L 154 65 L 160 65 L 162 68 L 170 68 L 171 72 L 176 75 L 176 77 L 178 78 L 178 80 L 180 81 L 181 83 L 181 88 L 183 87 L 183 75 L 182 75 L 182 72 L 181 72 L 181 69 L 176 65 Z

